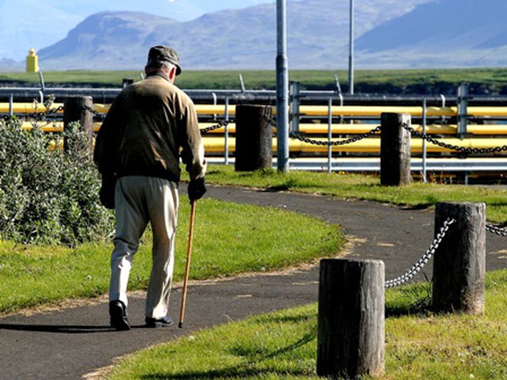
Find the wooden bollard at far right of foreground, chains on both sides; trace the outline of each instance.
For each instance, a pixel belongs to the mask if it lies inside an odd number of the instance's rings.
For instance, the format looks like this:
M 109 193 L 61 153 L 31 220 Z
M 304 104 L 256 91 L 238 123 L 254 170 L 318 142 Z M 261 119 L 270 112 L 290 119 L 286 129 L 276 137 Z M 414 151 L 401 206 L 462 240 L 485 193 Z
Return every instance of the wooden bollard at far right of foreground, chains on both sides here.
M 433 261 L 433 310 L 484 313 L 486 293 L 486 205 L 438 203 L 435 235 L 447 218 L 449 227 Z

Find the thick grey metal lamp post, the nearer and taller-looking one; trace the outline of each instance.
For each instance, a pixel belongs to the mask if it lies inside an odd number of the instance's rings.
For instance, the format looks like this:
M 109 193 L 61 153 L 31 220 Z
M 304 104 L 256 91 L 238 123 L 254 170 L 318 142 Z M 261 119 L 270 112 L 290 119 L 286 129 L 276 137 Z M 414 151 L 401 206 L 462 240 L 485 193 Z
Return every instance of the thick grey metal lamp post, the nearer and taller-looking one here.
M 289 72 L 287 0 L 277 0 L 277 168 L 289 171 Z

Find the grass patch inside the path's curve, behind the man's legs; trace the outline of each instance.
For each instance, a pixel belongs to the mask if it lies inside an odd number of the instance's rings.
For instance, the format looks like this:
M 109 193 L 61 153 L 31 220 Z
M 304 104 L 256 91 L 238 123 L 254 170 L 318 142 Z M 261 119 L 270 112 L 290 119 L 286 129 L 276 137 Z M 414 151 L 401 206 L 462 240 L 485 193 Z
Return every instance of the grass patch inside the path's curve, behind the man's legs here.
M 181 281 L 186 262 L 188 199 L 182 197 L 174 279 Z M 151 267 L 151 237 L 143 238 L 134 259 L 129 289 L 146 288 Z M 196 207 L 191 278 L 272 271 L 332 256 L 341 249 L 338 227 L 270 207 L 203 199 Z M 75 249 L 0 242 L 0 313 L 66 298 L 107 292 L 112 244 Z

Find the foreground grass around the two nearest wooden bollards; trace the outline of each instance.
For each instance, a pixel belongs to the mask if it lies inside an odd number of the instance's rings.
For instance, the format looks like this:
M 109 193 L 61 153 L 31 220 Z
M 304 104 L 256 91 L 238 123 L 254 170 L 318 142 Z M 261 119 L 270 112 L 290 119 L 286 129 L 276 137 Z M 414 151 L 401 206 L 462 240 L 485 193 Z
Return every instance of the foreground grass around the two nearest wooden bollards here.
M 402 315 L 386 319 L 383 379 L 506 379 L 507 270 L 487 274 L 483 316 L 432 315 L 428 288 L 386 293 Z M 316 332 L 316 305 L 251 317 L 132 354 L 109 378 L 316 380 Z

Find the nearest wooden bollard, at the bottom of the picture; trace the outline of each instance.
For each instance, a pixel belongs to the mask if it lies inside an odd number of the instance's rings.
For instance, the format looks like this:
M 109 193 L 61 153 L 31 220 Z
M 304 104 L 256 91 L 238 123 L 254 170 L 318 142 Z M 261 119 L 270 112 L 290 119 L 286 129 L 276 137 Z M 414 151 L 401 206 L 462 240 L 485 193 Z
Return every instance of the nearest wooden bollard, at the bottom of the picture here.
M 383 261 L 321 260 L 319 376 L 355 379 L 383 373 L 384 276 Z

